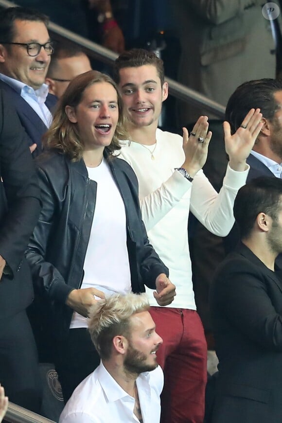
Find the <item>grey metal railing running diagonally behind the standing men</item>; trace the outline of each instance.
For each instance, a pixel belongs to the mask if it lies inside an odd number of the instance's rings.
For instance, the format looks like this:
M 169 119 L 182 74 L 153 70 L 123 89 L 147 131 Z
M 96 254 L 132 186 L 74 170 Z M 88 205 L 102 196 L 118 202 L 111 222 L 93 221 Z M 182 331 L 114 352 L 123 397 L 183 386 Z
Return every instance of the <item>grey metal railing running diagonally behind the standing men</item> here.
M 16 3 L 7 0 L 0 0 L 0 6 L 2 7 L 11 7 L 16 6 Z M 113 65 L 113 62 L 117 58 L 117 54 L 111 52 L 110 50 L 106 49 L 105 47 L 94 43 L 93 41 L 88 40 L 80 35 L 77 35 L 67 29 L 56 25 L 53 22 L 49 24 L 49 31 L 53 38 L 63 38 L 68 39 L 81 47 L 86 51 L 86 53 L 93 57 L 94 59 L 100 60 L 107 65 Z M 225 107 L 221 106 L 220 104 L 210 100 L 208 97 L 200 94 L 197 91 L 194 91 L 191 88 L 185 87 L 182 84 L 174 81 L 173 79 L 166 78 L 166 81 L 169 84 L 169 92 L 170 95 L 173 95 L 179 100 L 183 100 L 187 103 L 190 103 L 194 106 L 204 107 L 207 113 L 212 113 L 213 115 L 217 116 L 220 119 L 224 118 L 225 115 Z

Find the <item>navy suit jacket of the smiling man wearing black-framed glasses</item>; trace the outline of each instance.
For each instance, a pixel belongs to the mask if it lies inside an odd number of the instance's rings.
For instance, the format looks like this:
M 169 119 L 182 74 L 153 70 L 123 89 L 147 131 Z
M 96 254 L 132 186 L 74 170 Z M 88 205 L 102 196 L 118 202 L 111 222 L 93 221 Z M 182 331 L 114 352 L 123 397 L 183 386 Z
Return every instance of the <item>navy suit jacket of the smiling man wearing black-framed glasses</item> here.
M 46 125 L 39 118 L 34 109 L 14 88 L 0 80 L 0 89 L 7 92 L 9 98 L 15 106 L 21 126 L 27 134 L 28 145 L 32 145 L 34 143 L 37 144 L 33 157 L 38 156 L 42 150 L 42 135 L 47 131 Z M 57 99 L 53 94 L 48 94 L 45 104 L 50 110 L 52 110 L 56 104 L 56 100 Z

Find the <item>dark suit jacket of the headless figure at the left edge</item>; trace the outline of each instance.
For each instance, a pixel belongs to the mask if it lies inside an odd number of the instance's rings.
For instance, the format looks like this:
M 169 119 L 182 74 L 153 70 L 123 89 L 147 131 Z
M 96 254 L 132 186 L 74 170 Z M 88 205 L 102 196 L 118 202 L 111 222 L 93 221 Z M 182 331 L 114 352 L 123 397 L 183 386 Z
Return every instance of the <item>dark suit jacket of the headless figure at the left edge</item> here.
M 0 255 L 7 268 L 0 280 L 0 319 L 24 310 L 33 298 L 24 258 L 40 211 L 34 163 L 15 109 L 0 90 Z

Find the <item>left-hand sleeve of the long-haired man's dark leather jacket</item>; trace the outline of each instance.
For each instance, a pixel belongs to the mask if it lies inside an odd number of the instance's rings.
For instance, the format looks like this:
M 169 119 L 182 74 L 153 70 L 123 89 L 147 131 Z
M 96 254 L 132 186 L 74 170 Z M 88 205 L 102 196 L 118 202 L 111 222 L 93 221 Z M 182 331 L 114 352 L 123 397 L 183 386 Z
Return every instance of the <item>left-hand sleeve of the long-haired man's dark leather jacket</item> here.
M 51 300 L 65 303 L 73 288 L 66 284 L 56 267 L 45 259 L 56 208 L 53 190 L 48 175 L 41 168 L 37 169 L 37 174 L 43 207 L 30 238 L 26 258 L 32 271 L 37 292 L 48 296 Z

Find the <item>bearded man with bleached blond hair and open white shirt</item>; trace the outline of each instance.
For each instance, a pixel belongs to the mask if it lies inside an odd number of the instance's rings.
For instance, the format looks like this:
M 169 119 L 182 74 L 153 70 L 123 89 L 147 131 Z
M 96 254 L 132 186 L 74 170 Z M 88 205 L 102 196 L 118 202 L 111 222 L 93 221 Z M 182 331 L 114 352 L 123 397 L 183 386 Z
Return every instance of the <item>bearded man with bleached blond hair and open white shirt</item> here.
M 117 294 L 93 305 L 88 329 L 101 363 L 75 389 L 60 423 L 159 422 L 162 339 L 148 310 L 146 294 Z

